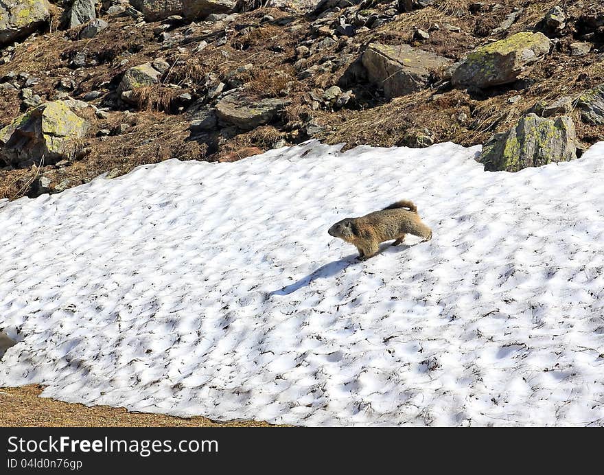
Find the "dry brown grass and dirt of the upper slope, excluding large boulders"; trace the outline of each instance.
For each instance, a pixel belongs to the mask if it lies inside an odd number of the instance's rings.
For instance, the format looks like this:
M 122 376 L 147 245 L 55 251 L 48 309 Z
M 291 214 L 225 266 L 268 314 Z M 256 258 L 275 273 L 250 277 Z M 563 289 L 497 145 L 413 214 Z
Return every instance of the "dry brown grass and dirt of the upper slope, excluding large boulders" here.
M 31 36 L 16 43 L 10 54 L 5 49 L 3 54 L 10 60 L 0 65 L 0 78 L 28 73 L 38 78 L 30 87 L 43 101 L 69 94 L 106 113 L 96 117 L 91 109 L 78 112 L 91 121 L 91 128 L 58 164 L 0 168 L 0 198 L 58 192 L 99 174 L 119 176 L 143 163 L 174 157 L 231 160 L 242 156 L 237 151 L 244 148 L 267 150 L 309 138 L 344 142 L 347 148 L 417 147 L 442 141 L 472 146 L 509 128 L 538 100 L 578 97 L 604 82 L 601 26 L 586 19 L 587 13 L 602 9 L 600 2 L 569 0 L 564 2 L 566 27 L 549 34 L 555 47 L 520 81 L 469 93 L 439 89 L 435 78 L 428 89 L 386 100 L 380 89 L 356 73 L 357 60 L 369 43 L 407 43 L 457 61 L 474 47 L 515 32 L 542 31 L 544 15 L 560 2 L 437 0 L 411 12 L 397 12 L 397 2 L 354 3 L 330 14 L 334 19 L 338 14 L 352 19 L 371 13 L 388 20 L 345 36 L 318 31 L 316 18 L 324 15 L 320 12 L 304 14 L 288 8 L 259 8 L 236 14 L 226 23 L 147 23 L 140 17 L 102 15 L 109 26 L 94 38 L 78 39 L 81 27 L 76 27 Z M 519 9 L 515 22 L 498 30 Z M 417 29 L 429 32 L 430 38 L 417 40 Z M 572 56 L 570 44 L 585 38 L 593 43 L 592 51 Z M 207 46 L 200 49 L 202 42 Z M 309 51 L 301 52 L 301 46 Z M 117 86 L 124 72 L 157 58 L 170 65 L 161 84 L 141 91 L 136 104 L 123 102 Z M 233 84 L 233 71 L 250 64 L 251 69 L 235 74 Z M 67 88 L 71 90 L 61 91 L 63 78 L 73 82 Z M 227 84 L 227 90 L 242 87 L 251 97 L 281 97 L 288 106 L 269 124 L 252 130 L 218 126 L 211 132 L 191 133 L 191 116 L 198 106 L 211 103 L 211 92 L 220 82 Z M 321 101 L 325 89 L 334 84 L 350 90 L 352 97 L 337 110 Z M 14 90 L 0 89 L 0 126 L 10 124 L 20 107 L 27 108 L 19 88 L 23 84 Z M 98 97 L 87 97 L 91 91 Z M 179 98 L 183 94 L 190 99 Z M 584 124 L 577 111 L 571 115 L 582 148 L 604 138 L 603 126 Z

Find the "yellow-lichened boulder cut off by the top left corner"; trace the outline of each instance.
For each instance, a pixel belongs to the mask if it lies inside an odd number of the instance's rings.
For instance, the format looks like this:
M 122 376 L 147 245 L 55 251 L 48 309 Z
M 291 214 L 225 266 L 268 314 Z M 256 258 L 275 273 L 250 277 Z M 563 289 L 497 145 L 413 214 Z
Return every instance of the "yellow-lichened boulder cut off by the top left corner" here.
M 47 0 L 0 1 L 0 45 L 25 38 L 50 17 Z

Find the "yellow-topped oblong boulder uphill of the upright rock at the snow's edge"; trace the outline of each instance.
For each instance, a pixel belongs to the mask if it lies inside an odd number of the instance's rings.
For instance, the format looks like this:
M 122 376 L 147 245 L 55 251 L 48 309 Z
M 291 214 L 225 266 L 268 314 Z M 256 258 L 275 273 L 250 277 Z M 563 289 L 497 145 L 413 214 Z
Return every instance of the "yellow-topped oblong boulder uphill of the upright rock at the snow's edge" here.
M 474 49 L 453 71 L 454 86 L 484 89 L 507 84 L 520 73 L 541 60 L 550 50 L 551 42 L 542 33 L 516 33 Z

